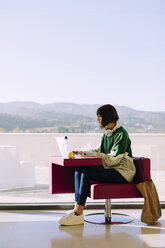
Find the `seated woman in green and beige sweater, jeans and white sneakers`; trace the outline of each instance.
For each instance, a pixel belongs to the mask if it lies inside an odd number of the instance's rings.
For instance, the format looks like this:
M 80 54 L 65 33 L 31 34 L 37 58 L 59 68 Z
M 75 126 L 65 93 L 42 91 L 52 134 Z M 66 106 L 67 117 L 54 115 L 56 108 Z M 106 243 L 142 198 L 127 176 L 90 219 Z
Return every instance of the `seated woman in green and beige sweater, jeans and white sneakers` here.
M 97 109 L 97 120 L 103 130 L 101 145 L 90 152 L 73 151 L 80 156 L 102 158 L 103 166 L 78 167 L 75 171 L 75 207 L 63 216 L 61 225 L 84 223 L 83 209 L 90 193 L 90 181 L 130 183 L 135 175 L 131 141 L 128 132 L 117 124 L 116 109 L 106 104 Z

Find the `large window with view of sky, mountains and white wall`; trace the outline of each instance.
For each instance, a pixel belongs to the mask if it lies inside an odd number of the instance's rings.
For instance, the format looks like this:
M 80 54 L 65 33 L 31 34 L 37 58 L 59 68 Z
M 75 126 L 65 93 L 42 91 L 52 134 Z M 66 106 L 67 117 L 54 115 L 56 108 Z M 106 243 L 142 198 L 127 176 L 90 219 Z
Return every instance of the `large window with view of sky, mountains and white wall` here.
M 164 0 L 0 1 L 2 204 L 74 201 L 49 194 L 55 137 L 67 134 L 70 150 L 97 145 L 106 103 L 133 155 L 151 158 L 165 200 L 164 9 Z

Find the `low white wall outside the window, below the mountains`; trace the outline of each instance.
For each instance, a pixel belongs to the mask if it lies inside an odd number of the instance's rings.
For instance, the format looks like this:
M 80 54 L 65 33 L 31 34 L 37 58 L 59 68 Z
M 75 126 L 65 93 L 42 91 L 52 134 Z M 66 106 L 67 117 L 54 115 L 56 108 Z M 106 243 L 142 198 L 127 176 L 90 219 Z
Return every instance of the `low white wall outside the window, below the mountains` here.
M 35 166 L 49 166 L 50 156 L 59 156 L 55 137 L 65 134 L 1 133 L 0 145 L 18 148 L 20 160 L 34 161 Z M 67 134 L 70 150 L 97 146 L 101 134 Z M 152 169 L 165 170 L 165 134 L 130 134 L 134 156 L 151 158 Z

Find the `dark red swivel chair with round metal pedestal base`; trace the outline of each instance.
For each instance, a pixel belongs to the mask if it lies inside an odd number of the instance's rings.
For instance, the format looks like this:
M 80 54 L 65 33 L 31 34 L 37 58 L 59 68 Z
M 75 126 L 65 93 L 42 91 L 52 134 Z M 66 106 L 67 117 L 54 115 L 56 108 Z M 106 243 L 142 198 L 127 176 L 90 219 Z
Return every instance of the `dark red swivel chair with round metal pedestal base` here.
M 92 183 L 90 187 L 90 197 L 92 199 L 105 199 L 105 214 L 89 214 L 85 216 L 85 221 L 100 224 L 125 224 L 132 222 L 131 218 L 124 214 L 111 215 L 111 199 L 121 198 L 143 198 L 137 190 L 136 184 L 145 179 L 149 181 L 150 175 L 150 159 L 134 158 L 136 167 L 136 175 L 133 183 L 129 184 L 112 184 L 112 183 Z M 144 175 L 143 175 L 144 172 Z

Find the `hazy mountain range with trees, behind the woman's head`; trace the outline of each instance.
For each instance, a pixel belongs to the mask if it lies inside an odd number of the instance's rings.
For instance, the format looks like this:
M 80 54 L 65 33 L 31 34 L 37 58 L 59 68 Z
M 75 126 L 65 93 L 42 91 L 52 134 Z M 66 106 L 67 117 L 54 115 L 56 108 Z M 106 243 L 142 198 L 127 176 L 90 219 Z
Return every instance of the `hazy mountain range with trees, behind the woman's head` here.
M 0 103 L 0 132 L 100 132 L 99 104 L 35 102 Z M 138 111 L 115 106 L 119 124 L 129 132 L 165 132 L 165 112 Z

